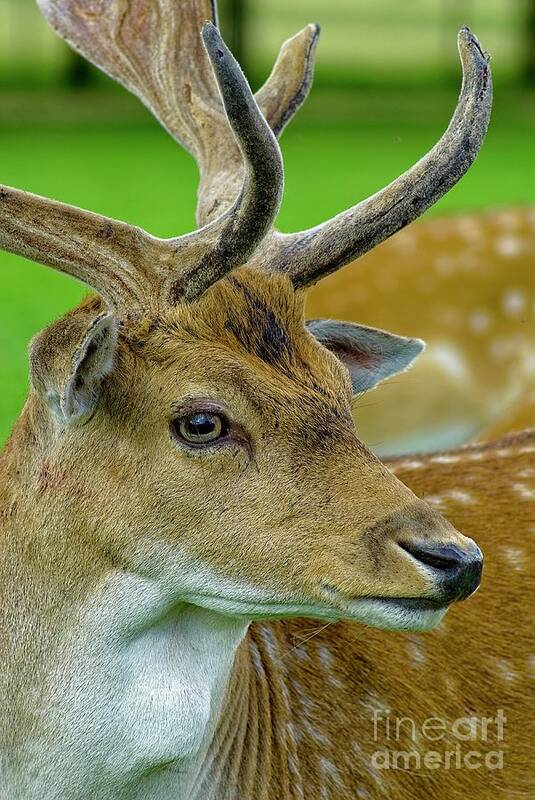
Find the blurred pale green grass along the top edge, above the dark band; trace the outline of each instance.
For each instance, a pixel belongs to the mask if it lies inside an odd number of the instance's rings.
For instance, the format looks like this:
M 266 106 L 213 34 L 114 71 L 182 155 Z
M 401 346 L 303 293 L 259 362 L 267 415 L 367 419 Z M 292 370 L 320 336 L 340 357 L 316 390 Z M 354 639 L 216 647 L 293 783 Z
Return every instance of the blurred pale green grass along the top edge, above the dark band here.
M 243 55 L 269 70 L 280 43 L 308 22 L 322 27 L 317 79 L 348 83 L 432 81 L 457 63 L 455 35 L 470 25 L 492 53 L 496 72 L 518 74 L 528 0 L 262 0 L 248 3 Z M 220 0 L 224 32 L 228 3 Z M 66 46 L 35 0 L 0 0 L 0 82 L 61 80 Z

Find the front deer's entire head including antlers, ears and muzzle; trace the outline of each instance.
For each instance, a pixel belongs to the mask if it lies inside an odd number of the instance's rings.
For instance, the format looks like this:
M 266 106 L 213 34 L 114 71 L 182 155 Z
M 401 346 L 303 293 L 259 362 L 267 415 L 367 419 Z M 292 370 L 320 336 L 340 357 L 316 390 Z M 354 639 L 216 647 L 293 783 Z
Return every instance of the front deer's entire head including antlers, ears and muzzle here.
M 491 103 L 477 40 L 459 34 L 463 88 L 438 144 L 373 197 L 283 235 L 276 136 L 310 86 L 316 26 L 283 45 L 255 98 L 207 0 L 40 6 L 194 155 L 202 226 L 163 240 L 1 187 L 0 245 L 99 295 L 34 340 L 4 455 L 44 572 L 82 592 L 123 570 L 165 603 L 247 618 L 434 625 L 476 588 L 481 554 L 360 443 L 350 411 L 423 345 L 307 325 L 304 290 L 466 172 Z

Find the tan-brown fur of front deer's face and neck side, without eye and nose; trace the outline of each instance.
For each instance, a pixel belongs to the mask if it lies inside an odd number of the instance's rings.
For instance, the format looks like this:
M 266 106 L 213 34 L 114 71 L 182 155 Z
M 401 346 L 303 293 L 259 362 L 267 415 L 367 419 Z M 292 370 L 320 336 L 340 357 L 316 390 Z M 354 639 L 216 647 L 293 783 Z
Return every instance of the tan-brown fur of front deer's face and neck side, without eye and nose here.
M 3 746 L 16 759 L 42 735 L 65 631 L 110 576 L 163 580 L 176 547 L 306 608 L 331 602 L 325 587 L 433 595 L 398 538 L 466 546 L 359 442 L 348 375 L 307 332 L 287 278 L 243 269 L 195 307 L 125 326 L 96 413 L 58 427 L 47 391 L 101 311 L 91 299 L 35 342 L 33 388 L 0 460 Z M 180 451 L 169 421 L 191 396 L 222 402 L 248 446 Z

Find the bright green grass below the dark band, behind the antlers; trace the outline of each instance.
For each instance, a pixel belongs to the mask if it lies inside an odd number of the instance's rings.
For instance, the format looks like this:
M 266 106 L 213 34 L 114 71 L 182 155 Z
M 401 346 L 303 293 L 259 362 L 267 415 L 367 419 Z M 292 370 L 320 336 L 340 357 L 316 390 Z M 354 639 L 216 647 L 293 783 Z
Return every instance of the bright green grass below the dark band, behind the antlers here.
M 93 100 L 89 96 L 82 105 Z M 280 227 L 313 225 L 392 180 L 434 143 L 454 101 L 451 93 L 320 93 L 282 140 L 287 183 Z M 16 105 L 13 98 L 10 102 Z M 135 222 L 158 235 L 191 229 L 195 165 L 144 114 L 127 114 L 122 123 L 91 122 L 97 102 L 85 108 L 82 123 L 72 118 L 54 123 L 58 115 L 51 108 L 45 113 L 46 101 L 40 102 L 42 113 L 32 107 L 38 117 L 33 124 L 9 125 L 7 118 L 0 127 L 3 183 Z M 432 213 L 533 201 L 530 103 L 532 98 L 518 94 L 498 98 L 482 155 Z M 16 119 L 31 115 L 21 106 Z M 7 254 L 0 254 L 0 280 L 2 440 L 26 393 L 28 341 L 85 290 Z

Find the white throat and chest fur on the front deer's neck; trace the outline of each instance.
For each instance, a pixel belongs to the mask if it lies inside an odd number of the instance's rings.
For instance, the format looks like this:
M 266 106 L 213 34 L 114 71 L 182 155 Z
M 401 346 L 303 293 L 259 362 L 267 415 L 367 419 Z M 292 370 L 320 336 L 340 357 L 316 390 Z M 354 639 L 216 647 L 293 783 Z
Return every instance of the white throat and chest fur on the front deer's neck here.
M 64 602 L 63 625 L 29 620 L 35 652 L 13 644 L 2 693 L 2 797 L 189 800 L 234 707 L 225 698 L 248 623 L 166 600 L 114 574 L 85 603 Z

